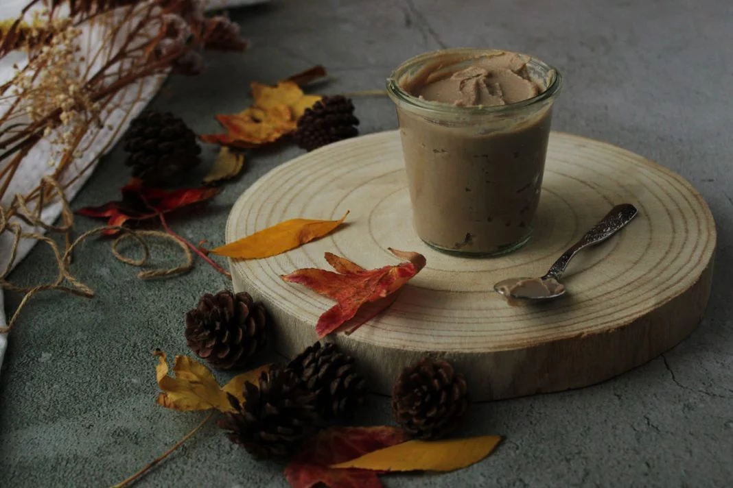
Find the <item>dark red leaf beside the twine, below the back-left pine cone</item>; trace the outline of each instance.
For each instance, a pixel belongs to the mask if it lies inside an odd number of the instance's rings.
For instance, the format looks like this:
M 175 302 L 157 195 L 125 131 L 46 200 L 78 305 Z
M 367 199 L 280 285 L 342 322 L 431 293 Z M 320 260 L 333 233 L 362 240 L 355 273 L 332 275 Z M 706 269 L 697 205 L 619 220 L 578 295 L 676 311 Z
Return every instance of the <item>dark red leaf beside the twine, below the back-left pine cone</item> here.
M 218 192 L 219 189 L 210 187 L 174 190 L 147 188 L 140 180 L 133 179 L 122 187 L 122 200 L 97 207 L 84 207 L 76 213 L 84 217 L 106 218 L 107 225 L 121 226 L 128 220 L 151 219 L 182 206 L 208 200 Z M 107 236 L 116 233 L 114 229 L 104 231 Z

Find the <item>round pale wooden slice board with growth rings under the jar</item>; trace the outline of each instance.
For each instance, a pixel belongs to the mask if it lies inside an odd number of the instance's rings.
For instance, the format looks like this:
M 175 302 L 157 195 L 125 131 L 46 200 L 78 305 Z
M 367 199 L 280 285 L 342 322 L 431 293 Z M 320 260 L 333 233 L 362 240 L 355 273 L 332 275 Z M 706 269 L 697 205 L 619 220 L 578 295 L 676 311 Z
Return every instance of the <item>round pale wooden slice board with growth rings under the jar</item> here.
M 286 219 L 338 219 L 331 236 L 283 255 L 232 260 L 237 291 L 265 302 L 276 349 L 295 356 L 334 305 L 281 280 L 299 268 L 330 269 L 326 251 L 367 269 L 397 264 L 388 247 L 420 252 L 427 266 L 397 301 L 350 336 L 331 334 L 374 391 L 389 394 L 406 365 L 431 354 L 452 361 L 474 399 L 578 388 L 619 375 L 676 345 L 699 323 L 708 296 L 715 223 L 676 173 L 636 154 L 553 132 L 533 239 L 499 258 L 457 258 L 416 236 L 399 133 L 331 144 L 259 179 L 235 203 L 226 242 Z M 570 263 L 567 296 L 509 307 L 494 283 L 541 276 L 616 203 L 639 215 L 617 236 Z

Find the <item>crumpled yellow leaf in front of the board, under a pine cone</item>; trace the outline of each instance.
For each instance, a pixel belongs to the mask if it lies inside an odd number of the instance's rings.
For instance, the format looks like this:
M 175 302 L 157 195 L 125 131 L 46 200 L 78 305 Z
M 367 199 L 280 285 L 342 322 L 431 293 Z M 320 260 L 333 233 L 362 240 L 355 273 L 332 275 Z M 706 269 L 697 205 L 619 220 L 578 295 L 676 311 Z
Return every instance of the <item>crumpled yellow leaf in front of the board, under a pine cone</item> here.
M 269 366 L 262 366 L 232 378 L 223 388 L 216 382 L 216 378 L 203 364 L 188 358 L 176 356 L 173 363 L 175 378 L 168 375 L 168 359 L 166 353 L 155 350 L 158 365 L 155 367 L 158 386 L 163 390 L 158 394 L 157 403 L 165 408 L 172 408 L 186 412 L 190 410 L 210 410 L 216 408 L 221 412 L 232 412 L 234 408 L 229 403 L 226 394 L 232 394 L 240 402 L 244 402 L 242 388 L 246 381 L 256 382 L 259 373 Z

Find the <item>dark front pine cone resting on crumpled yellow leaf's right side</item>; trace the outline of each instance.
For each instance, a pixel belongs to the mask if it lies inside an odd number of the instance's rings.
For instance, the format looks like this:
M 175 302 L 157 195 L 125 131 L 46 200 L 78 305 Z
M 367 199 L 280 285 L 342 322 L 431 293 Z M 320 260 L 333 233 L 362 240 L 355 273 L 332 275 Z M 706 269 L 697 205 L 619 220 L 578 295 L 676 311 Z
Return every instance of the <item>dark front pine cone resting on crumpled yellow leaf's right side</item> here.
M 255 457 L 287 457 L 317 431 L 316 395 L 280 366 L 262 372 L 258 383 L 244 383 L 243 405 L 229 395 L 237 412 L 226 413 L 219 427 Z

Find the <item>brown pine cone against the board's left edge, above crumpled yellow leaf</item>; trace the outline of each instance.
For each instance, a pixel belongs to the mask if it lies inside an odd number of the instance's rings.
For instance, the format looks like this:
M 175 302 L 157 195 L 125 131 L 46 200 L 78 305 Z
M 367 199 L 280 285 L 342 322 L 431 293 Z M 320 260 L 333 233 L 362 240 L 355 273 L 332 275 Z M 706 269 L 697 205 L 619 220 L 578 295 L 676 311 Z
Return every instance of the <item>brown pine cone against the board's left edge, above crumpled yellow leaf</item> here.
M 249 293 L 207 293 L 185 316 L 188 347 L 218 369 L 243 367 L 266 342 L 265 307 Z

